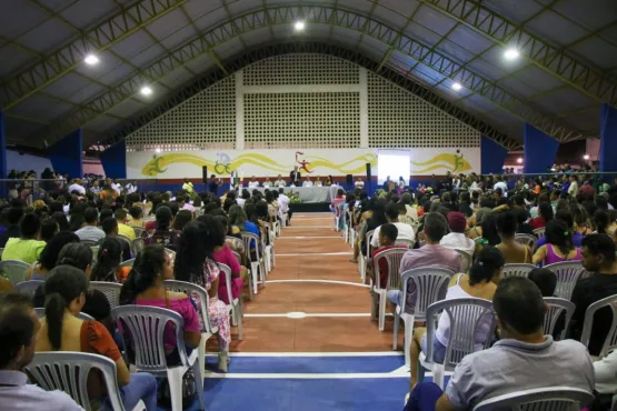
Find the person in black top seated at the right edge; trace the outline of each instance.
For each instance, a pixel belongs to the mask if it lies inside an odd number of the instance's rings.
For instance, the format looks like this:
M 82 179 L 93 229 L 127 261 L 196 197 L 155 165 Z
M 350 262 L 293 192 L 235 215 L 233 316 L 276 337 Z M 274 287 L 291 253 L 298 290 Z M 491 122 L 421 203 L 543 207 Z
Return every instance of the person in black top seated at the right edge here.
M 576 310 L 570 321 L 569 337 L 580 340 L 585 322 L 585 311 L 594 302 L 617 294 L 617 270 L 615 268 L 615 243 L 606 234 L 590 234 L 583 240 L 583 267 L 591 277 L 579 280 L 574 289 L 571 302 Z M 589 353 L 598 355 L 613 323 L 609 308 L 601 309 L 594 317 L 594 328 L 589 340 Z

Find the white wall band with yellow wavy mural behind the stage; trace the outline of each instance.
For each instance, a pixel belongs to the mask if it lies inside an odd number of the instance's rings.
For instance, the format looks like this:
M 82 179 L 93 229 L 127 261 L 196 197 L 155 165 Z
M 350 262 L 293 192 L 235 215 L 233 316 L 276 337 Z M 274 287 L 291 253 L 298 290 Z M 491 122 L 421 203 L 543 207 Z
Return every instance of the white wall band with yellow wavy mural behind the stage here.
M 377 149 L 136 151 L 127 153 L 127 178 L 195 179 L 202 176 L 203 166 L 209 174 L 225 178 L 231 173 L 240 178 L 278 174 L 288 178 L 296 166 L 305 177 L 364 176 L 366 163 L 371 164 L 376 176 L 377 159 Z M 481 170 L 480 148 L 410 149 L 409 159 L 411 176 L 440 176 L 448 171 L 468 174 Z

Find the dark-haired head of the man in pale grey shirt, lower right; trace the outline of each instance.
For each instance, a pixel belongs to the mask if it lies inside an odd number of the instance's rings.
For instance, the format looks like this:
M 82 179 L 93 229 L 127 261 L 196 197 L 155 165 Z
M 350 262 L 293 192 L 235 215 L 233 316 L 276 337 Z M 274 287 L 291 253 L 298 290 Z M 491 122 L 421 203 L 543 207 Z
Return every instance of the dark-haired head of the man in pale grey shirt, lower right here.
M 546 305 L 540 289 L 529 279 L 502 279 L 492 298 L 492 305 L 505 331 L 529 335 L 543 329 Z

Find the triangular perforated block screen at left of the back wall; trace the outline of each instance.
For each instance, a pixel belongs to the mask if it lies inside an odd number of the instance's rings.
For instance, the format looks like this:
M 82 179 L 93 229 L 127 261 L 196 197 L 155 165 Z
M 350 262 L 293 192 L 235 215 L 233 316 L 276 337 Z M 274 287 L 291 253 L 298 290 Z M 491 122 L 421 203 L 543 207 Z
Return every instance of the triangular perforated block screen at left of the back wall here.
M 236 147 L 236 78 L 228 77 L 132 133 L 132 150 Z

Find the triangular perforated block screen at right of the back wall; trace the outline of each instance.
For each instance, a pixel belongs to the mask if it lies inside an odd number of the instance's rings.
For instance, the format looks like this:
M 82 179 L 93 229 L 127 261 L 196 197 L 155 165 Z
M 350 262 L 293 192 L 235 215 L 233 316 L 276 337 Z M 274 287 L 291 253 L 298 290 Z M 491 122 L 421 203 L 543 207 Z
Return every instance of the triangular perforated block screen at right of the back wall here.
M 479 131 L 370 72 L 368 119 L 371 148 L 480 146 Z

